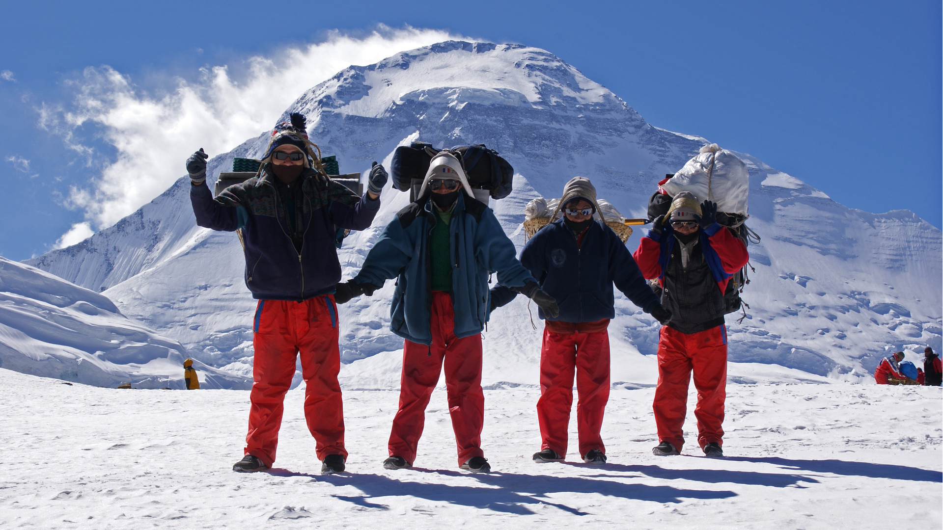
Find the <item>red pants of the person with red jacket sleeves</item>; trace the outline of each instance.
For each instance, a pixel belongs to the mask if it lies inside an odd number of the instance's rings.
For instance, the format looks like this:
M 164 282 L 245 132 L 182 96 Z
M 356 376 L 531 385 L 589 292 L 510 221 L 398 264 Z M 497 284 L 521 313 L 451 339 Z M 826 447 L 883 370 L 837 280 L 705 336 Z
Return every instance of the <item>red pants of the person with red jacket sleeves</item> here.
M 658 340 L 658 386 L 654 390 L 654 422 L 658 441 L 681 451 L 687 412 L 687 385 L 694 373 L 698 404 L 698 443 L 723 444 L 723 402 L 727 397 L 727 328 L 719 325 L 698 333 L 661 326 Z

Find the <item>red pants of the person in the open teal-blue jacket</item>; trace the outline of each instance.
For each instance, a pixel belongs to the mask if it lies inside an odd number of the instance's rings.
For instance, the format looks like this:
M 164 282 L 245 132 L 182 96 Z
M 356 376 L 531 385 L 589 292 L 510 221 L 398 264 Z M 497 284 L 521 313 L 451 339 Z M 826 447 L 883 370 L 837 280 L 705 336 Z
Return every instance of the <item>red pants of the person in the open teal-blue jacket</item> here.
M 458 465 L 484 456 L 481 430 L 485 424 L 485 393 L 481 389 L 481 335 L 455 337 L 455 312 L 449 293 L 432 291 L 432 345 L 405 340 L 400 406 L 389 433 L 389 455 L 410 464 L 425 424 L 425 406 L 445 363 L 445 389 L 458 446 Z

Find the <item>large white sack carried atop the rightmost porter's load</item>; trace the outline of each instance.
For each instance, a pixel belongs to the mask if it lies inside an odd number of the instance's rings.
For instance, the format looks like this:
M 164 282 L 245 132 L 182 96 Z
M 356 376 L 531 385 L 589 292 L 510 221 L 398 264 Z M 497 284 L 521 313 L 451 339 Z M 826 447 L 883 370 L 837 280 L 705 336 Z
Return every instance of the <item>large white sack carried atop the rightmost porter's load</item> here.
M 717 203 L 718 211 L 747 215 L 750 172 L 739 157 L 711 143 L 701 154 L 687 160 L 685 167 L 661 185 L 670 196 L 690 191 L 698 201 Z

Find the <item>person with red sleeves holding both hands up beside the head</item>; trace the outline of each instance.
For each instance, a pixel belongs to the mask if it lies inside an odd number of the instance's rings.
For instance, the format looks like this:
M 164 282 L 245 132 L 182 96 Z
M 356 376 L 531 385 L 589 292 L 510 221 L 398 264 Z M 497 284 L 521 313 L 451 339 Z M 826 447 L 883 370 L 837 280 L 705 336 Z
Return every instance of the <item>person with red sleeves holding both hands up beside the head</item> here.
M 658 278 L 661 304 L 671 320 L 658 340 L 658 385 L 654 455 L 678 455 L 685 443 L 687 386 L 694 373 L 698 389 L 698 443 L 704 455 L 723 456 L 723 405 L 727 383 L 727 328 L 723 292 L 750 256 L 743 241 L 717 223 L 717 205 L 698 204 L 682 191 L 668 214 L 655 220 L 635 253 L 646 279 Z

